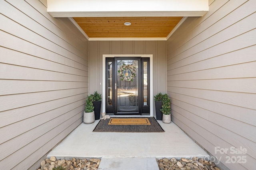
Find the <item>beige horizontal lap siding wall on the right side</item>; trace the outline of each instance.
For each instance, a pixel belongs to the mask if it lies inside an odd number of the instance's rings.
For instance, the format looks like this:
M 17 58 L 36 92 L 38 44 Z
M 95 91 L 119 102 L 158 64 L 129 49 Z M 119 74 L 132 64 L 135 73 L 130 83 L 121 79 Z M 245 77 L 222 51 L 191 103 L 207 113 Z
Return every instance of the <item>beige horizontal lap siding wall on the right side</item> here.
M 184 21 L 167 40 L 167 91 L 174 123 L 231 170 L 255 169 L 255 0 L 210 0 Z

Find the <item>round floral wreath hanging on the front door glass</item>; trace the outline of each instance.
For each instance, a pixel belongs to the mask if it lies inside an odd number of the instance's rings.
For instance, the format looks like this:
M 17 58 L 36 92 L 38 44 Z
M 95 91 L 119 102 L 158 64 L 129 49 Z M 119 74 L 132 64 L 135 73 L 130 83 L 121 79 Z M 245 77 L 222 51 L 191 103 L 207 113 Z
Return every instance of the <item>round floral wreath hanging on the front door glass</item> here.
M 121 80 L 133 81 L 136 76 L 136 67 L 132 64 L 123 64 L 118 70 Z

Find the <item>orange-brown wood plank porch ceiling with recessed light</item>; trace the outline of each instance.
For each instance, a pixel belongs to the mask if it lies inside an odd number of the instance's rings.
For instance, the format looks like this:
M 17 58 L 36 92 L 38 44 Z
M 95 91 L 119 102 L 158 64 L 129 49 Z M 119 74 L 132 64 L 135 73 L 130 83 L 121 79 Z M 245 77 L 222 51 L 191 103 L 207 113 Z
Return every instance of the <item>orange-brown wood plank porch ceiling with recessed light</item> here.
M 75 17 L 90 38 L 167 37 L 183 17 Z M 130 22 L 130 26 L 124 25 Z

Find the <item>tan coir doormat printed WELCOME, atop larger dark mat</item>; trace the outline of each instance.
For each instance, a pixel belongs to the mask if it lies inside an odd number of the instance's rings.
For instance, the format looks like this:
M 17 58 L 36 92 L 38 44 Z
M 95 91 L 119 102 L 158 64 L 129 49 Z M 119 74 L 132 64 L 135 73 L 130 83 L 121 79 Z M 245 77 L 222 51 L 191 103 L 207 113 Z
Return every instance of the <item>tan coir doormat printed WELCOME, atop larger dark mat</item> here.
M 151 125 L 148 118 L 110 118 L 108 125 Z

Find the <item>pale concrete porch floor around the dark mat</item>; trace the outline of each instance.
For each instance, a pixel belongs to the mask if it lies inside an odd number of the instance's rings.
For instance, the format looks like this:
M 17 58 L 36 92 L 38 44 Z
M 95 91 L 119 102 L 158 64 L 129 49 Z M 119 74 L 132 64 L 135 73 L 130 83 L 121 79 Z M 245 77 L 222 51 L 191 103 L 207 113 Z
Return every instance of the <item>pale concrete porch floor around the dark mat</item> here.
M 48 155 L 57 159 L 116 157 L 192 158 L 210 156 L 176 124 L 158 121 L 164 133 L 92 132 L 100 120 L 81 123 Z

